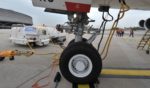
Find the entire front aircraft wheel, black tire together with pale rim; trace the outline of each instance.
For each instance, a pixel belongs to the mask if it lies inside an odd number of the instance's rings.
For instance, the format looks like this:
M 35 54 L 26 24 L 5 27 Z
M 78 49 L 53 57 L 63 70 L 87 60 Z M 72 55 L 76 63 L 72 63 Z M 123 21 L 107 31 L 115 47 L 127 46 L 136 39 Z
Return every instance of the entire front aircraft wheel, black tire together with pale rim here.
M 96 82 L 102 69 L 102 60 L 97 50 L 85 42 L 68 46 L 60 57 L 62 75 L 72 83 Z

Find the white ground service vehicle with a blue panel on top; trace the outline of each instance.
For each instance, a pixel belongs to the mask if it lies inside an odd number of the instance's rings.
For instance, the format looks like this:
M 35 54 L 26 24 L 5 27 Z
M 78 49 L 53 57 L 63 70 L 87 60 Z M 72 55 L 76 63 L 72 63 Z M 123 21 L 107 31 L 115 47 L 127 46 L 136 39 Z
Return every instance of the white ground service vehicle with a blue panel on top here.
M 24 26 L 21 24 L 12 25 L 9 38 L 15 44 L 31 46 L 44 46 L 49 44 L 49 35 L 46 27 Z

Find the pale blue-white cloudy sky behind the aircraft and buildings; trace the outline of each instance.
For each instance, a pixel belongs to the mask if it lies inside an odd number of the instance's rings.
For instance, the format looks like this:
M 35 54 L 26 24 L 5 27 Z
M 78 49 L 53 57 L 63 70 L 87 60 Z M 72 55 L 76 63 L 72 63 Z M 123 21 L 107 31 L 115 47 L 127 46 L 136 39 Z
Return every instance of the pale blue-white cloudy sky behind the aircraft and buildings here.
M 0 0 L 0 8 L 14 10 L 27 14 L 32 17 L 34 25 L 46 24 L 54 27 L 56 24 L 64 24 L 67 22 L 67 16 L 62 14 L 44 12 L 44 8 L 34 7 L 31 0 Z M 110 13 L 116 18 L 118 10 L 110 9 Z M 102 13 L 98 8 L 91 8 L 88 13 L 90 19 L 95 20 L 94 27 L 99 27 L 102 19 Z M 118 24 L 118 27 L 136 27 L 141 19 L 146 20 L 150 17 L 150 11 L 130 10 Z M 106 28 L 111 28 L 112 22 L 107 24 Z

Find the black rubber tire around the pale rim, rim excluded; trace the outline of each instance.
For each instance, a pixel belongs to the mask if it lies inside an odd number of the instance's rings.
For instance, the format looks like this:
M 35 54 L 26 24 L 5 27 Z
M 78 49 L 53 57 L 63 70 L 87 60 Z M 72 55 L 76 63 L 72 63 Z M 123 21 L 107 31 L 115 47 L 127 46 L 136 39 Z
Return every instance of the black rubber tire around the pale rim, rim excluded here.
M 75 55 L 85 55 L 92 63 L 91 72 L 85 77 L 77 77 L 69 70 L 69 61 Z M 89 65 L 88 65 L 89 66 Z M 60 57 L 59 68 L 62 75 L 72 83 L 93 83 L 96 82 L 102 69 L 102 60 L 97 50 L 86 42 L 77 42 L 68 46 Z

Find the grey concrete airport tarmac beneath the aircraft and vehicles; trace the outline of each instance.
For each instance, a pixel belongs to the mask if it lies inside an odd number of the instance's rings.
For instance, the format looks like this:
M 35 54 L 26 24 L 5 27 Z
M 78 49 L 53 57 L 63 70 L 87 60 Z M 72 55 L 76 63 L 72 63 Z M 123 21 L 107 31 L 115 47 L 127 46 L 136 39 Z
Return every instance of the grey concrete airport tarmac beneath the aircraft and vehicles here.
M 9 38 L 10 30 L 0 30 L 0 50 L 29 50 L 27 46 L 12 44 Z M 134 69 L 134 70 L 150 70 L 150 55 L 143 50 L 137 50 L 136 47 L 141 39 L 143 31 L 135 32 L 135 37 L 129 37 L 128 32 L 123 37 L 113 37 L 108 57 L 103 60 L 103 69 Z M 136 35 L 137 34 L 137 35 Z M 67 35 L 67 43 L 73 38 L 73 35 Z M 85 35 L 89 37 L 89 35 Z M 105 43 L 107 35 L 104 37 L 102 47 Z M 93 45 L 98 44 L 97 38 Z M 35 47 L 38 52 L 57 52 L 61 53 L 62 49 L 56 45 L 49 44 L 44 47 Z M 101 49 L 102 50 L 102 49 Z M 99 52 L 101 52 L 101 50 Z M 33 55 L 31 57 L 16 56 L 14 61 L 8 59 L 0 62 L 0 88 L 32 88 L 32 85 L 40 78 L 49 74 L 51 70 L 52 55 Z M 59 71 L 56 66 L 55 72 Z M 125 71 L 123 71 L 125 73 Z M 44 85 L 50 80 L 50 85 L 45 88 L 54 88 L 53 78 L 55 74 L 40 82 Z M 133 75 L 134 76 L 134 75 Z M 150 77 L 143 76 L 112 76 L 102 75 L 99 77 L 100 84 L 98 88 L 149 88 Z M 58 88 L 71 88 L 72 84 L 62 78 Z

